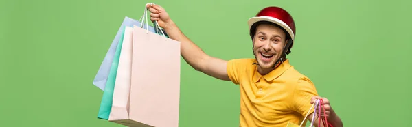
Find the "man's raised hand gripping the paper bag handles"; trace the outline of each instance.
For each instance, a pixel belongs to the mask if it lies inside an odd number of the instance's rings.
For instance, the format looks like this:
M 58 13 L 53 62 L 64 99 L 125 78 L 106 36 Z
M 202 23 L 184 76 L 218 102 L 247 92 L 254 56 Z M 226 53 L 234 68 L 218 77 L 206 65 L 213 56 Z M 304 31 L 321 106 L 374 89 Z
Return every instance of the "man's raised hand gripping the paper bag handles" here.
M 150 12 L 150 20 L 152 20 L 152 22 L 157 21 L 159 26 L 163 27 L 163 29 L 166 29 L 168 24 L 172 23 L 168 12 L 166 12 L 160 5 L 148 4 L 146 8 L 148 8 Z

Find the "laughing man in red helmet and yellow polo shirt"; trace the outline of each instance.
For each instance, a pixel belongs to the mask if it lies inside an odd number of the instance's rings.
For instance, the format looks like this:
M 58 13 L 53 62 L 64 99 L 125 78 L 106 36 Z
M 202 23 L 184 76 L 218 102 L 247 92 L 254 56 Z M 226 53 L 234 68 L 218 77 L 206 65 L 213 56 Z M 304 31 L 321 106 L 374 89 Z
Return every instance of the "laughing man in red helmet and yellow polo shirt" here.
M 317 96 L 310 79 L 286 59 L 295 39 L 295 24 L 282 8 L 264 8 L 249 19 L 255 59 L 229 61 L 205 54 L 181 32 L 161 6 L 148 5 L 147 8 L 151 12 L 150 20 L 157 21 L 170 38 L 181 42 L 181 55 L 187 64 L 209 76 L 240 85 L 240 126 L 306 123 L 307 119 L 312 119 L 310 107 L 315 99 L 322 99 L 325 104 L 325 112 L 321 112 L 323 119 L 327 117 L 334 127 L 343 126 L 328 99 Z M 304 119 L 305 116 L 308 118 Z M 315 126 L 318 118 L 314 118 Z

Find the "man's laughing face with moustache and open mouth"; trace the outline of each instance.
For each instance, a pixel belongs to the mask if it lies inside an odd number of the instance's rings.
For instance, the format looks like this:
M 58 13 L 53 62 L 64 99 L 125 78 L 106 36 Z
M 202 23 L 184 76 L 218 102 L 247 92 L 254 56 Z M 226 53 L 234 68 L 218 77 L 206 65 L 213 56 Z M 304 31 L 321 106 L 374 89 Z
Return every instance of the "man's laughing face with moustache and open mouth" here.
M 273 25 L 262 24 L 253 38 L 253 53 L 262 69 L 271 68 L 282 55 L 286 34 Z

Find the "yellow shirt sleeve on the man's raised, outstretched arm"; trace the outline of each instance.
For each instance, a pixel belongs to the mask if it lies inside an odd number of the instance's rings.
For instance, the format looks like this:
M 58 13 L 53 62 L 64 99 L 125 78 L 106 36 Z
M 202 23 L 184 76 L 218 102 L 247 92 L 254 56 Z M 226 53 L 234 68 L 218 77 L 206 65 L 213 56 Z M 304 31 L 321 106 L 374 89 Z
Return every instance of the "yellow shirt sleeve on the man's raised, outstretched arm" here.
M 227 76 L 229 79 L 235 83 L 239 84 L 240 72 L 242 72 L 242 59 L 231 59 L 227 61 Z

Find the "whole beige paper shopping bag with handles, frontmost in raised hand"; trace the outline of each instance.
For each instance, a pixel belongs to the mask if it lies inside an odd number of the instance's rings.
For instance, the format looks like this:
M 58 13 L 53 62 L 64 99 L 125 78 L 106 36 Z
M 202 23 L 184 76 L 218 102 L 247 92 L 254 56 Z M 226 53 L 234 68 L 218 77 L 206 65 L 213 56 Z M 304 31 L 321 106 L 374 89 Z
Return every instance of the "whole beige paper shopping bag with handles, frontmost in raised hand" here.
M 177 127 L 181 44 L 168 38 L 157 23 L 152 32 L 147 15 L 145 10 L 141 25 L 127 27 L 124 33 L 109 121 Z

